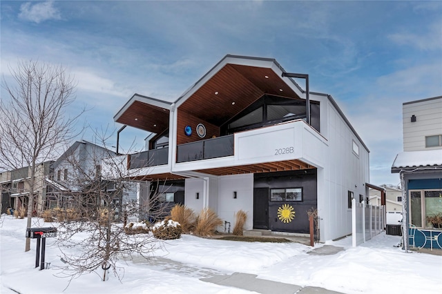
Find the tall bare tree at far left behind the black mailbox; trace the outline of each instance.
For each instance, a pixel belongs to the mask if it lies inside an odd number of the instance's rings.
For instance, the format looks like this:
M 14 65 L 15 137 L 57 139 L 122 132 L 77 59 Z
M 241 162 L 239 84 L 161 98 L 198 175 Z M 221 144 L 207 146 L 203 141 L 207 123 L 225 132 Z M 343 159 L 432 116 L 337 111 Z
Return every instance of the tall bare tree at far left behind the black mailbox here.
M 38 61 L 19 61 L 10 68 L 14 86 L 2 79 L 10 99 L 0 101 L 0 166 L 29 167 L 28 222 L 35 209 L 35 173 L 39 162 L 56 155 L 57 148 L 74 136 L 82 111 L 70 117 L 67 108 L 75 100 L 75 83 L 61 66 Z M 25 251 L 30 250 L 26 239 Z

